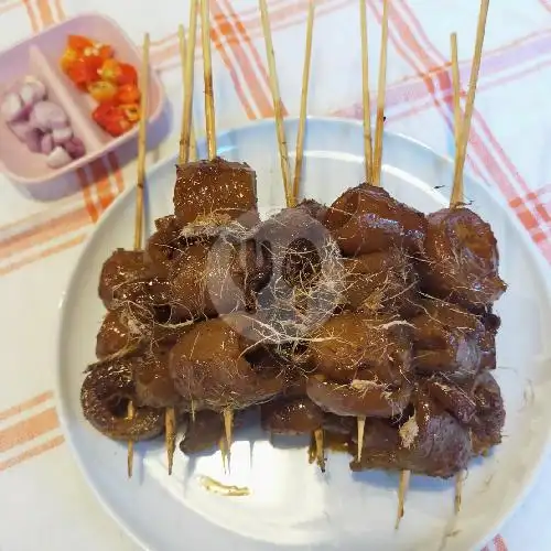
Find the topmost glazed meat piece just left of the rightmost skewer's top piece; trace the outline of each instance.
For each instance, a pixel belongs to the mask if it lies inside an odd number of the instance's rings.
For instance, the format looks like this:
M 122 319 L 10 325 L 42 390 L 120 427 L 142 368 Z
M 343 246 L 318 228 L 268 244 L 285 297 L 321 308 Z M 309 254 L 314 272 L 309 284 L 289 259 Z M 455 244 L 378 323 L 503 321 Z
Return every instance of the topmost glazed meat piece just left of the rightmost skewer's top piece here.
M 410 252 L 423 248 L 424 215 L 396 201 L 382 187 L 361 184 L 350 187 L 325 216 L 325 226 L 347 256 L 404 246 Z

